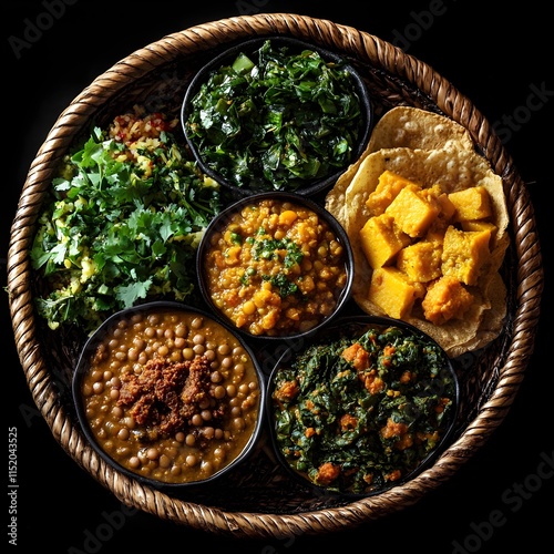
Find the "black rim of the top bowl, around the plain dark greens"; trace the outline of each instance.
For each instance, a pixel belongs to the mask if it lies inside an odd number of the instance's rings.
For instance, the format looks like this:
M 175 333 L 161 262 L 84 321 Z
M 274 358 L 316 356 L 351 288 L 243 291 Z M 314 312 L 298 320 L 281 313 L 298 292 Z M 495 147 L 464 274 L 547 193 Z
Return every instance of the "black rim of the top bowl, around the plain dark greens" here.
M 326 174 L 318 175 L 315 178 L 296 179 L 294 185 L 293 182 L 288 181 L 285 184 L 283 181 L 279 181 L 277 183 L 277 179 L 267 178 L 267 176 L 261 175 L 260 172 L 257 172 L 256 179 L 249 181 L 248 183 L 238 183 L 237 179 L 233 178 L 229 175 L 222 175 L 219 171 L 219 161 L 214 160 L 213 157 L 208 158 L 207 156 L 205 156 L 203 146 L 201 145 L 201 140 L 195 135 L 189 126 L 189 119 L 195 110 L 193 105 L 193 99 L 196 96 L 201 88 L 208 83 L 211 75 L 220 68 L 230 66 L 236 60 L 237 55 L 243 53 L 249 57 L 250 60 L 255 64 L 257 64 L 257 52 L 268 40 L 270 41 L 271 47 L 275 49 L 280 49 L 283 47 L 286 48 L 287 54 L 289 55 L 299 54 L 305 50 L 309 50 L 312 52 L 317 52 L 326 62 L 330 62 L 334 64 L 343 64 L 345 71 L 347 71 L 351 76 L 352 91 L 357 95 L 360 105 L 359 127 L 356 130 L 357 136 L 353 145 L 351 146 L 351 155 L 349 156 L 348 162 L 345 162 L 342 164 L 343 166 L 340 167 L 330 166 Z M 228 95 L 225 96 L 225 100 L 228 101 Z M 324 115 L 324 113 L 321 113 L 321 115 Z M 308 42 L 285 35 L 259 37 L 256 39 L 247 40 L 238 44 L 234 44 L 224 52 L 216 55 L 206 65 L 204 65 L 191 81 L 184 96 L 181 112 L 181 120 L 186 141 L 199 167 L 205 174 L 229 189 L 235 195 L 235 197 L 242 197 L 247 194 L 252 194 L 253 192 L 275 189 L 295 192 L 297 194 L 310 196 L 326 189 L 338 178 L 338 176 L 348 167 L 349 164 L 353 163 L 361 155 L 361 153 L 366 148 L 369 141 L 372 119 L 372 106 L 369 92 L 363 80 L 351 64 L 347 63 L 343 59 L 341 59 L 334 52 L 321 49 L 315 44 L 310 44 Z M 293 120 L 288 119 L 287 121 L 290 122 Z M 243 122 L 240 133 L 243 133 L 242 136 L 245 141 L 248 141 L 250 138 L 250 136 L 248 136 L 248 132 L 249 131 L 245 130 L 245 124 Z M 269 150 L 270 145 L 271 144 L 268 144 L 268 147 L 265 150 Z M 310 146 L 305 145 L 305 147 L 309 148 Z

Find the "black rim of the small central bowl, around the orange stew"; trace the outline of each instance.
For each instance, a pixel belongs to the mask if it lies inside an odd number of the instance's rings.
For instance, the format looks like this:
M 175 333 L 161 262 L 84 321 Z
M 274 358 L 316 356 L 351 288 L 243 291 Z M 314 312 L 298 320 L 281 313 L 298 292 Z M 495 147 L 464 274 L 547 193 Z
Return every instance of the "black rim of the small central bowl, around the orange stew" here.
M 246 326 L 242 326 L 238 324 L 238 321 L 233 318 L 229 314 L 224 314 L 224 310 L 222 309 L 222 305 L 226 306 L 227 304 L 219 301 L 216 302 L 214 301 L 212 289 L 209 286 L 209 273 L 212 271 L 214 276 L 214 281 L 218 279 L 222 281 L 222 273 L 220 269 L 215 270 L 214 264 L 208 260 L 208 253 L 209 249 L 213 245 L 213 242 L 215 237 L 217 237 L 223 229 L 226 229 L 227 226 L 230 224 L 233 216 L 240 214 L 245 207 L 248 206 L 259 206 L 261 203 L 265 203 L 266 201 L 275 201 L 276 203 L 284 203 L 287 205 L 287 203 L 290 203 L 291 205 L 295 205 L 297 208 L 304 207 L 307 208 L 308 211 L 314 212 L 318 216 L 319 222 L 325 222 L 327 224 L 328 229 L 334 234 L 337 243 L 340 245 L 342 249 L 342 255 L 341 255 L 341 264 L 345 267 L 346 275 L 345 275 L 345 281 L 341 288 L 339 286 L 332 288 L 332 294 L 335 296 L 334 302 L 335 307 L 332 308 L 332 311 L 319 315 L 319 321 L 317 325 L 308 328 L 306 325 L 306 319 L 309 318 L 309 316 L 304 317 L 300 316 L 300 321 L 304 324 L 304 326 L 300 326 L 295 329 L 284 329 L 283 327 L 276 325 L 275 329 L 279 330 L 269 330 L 269 331 L 263 331 L 263 332 L 254 332 L 250 331 Z M 267 230 L 267 229 L 266 229 Z M 253 228 L 252 229 L 252 235 L 248 237 L 240 237 L 242 243 L 246 243 L 248 240 L 254 240 L 254 238 L 258 236 L 258 229 Z M 275 235 L 274 235 L 275 236 Z M 238 246 L 237 246 L 238 247 Z M 254 248 L 250 250 L 250 255 L 254 252 Z M 225 255 L 225 253 L 223 253 Z M 246 256 L 243 256 L 240 254 L 240 259 L 246 258 Z M 311 258 L 310 258 L 311 259 Z M 248 264 L 248 263 L 246 263 Z M 301 263 L 300 263 L 301 265 Z M 284 340 L 284 339 L 297 339 L 297 338 L 302 338 L 302 337 L 308 337 L 310 335 L 315 335 L 319 332 L 325 326 L 327 326 L 330 321 L 332 321 L 338 314 L 341 311 L 343 308 L 345 304 L 348 301 L 351 295 L 351 288 L 352 288 L 352 283 L 353 283 L 353 255 L 352 255 L 352 249 L 350 246 L 350 242 L 348 239 L 348 236 L 342 228 L 342 226 L 337 222 L 337 219 L 329 214 L 324 207 L 321 207 L 319 204 L 314 202 L 310 198 L 307 198 L 305 196 L 300 196 L 298 194 L 294 193 L 286 193 L 286 192 L 275 192 L 275 193 L 257 193 L 254 194 L 249 197 L 242 198 L 239 201 L 236 201 L 234 204 L 228 206 L 226 209 L 220 212 L 208 225 L 206 228 L 203 238 L 201 240 L 201 244 L 198 246 L 197 255 L 196 255 L 196 266 L 197 266 L 197 274 L 198 274 L 198 283 L 199 283 L 199 288 L 202 296 L 206 304 L 209 306 L 209 308 L 213 310 L 215 317 L 217 317 L 219 320 L 225 322 L 226 325 L 233 327 L 238 334 L 240 334 L 244 338 L 246 339 L 259 339 L 259 340 Z M 245 268 L 248 266 L 245 265 Z M 253 269 L 253 268 L 250 268 Z M 309 275 L 314 275 L 314 270 L 309 271 Z M 258 285 L 261 287 L 264 283 L 264 278 L 266 276 L 259 276 L 259 274 L 254 277 L 254 279 L 258 279 L 257 281 L 255 280 L 254 284 L 258 283 Z M 302 274 L 302 277 L 305 279 L 308 278 L 308 273 Z M 318 276 L 315 276 L 315 280 L 317 283 L 317 279 L 319 279 Z M 236 280 L 236 279 L 235 279 Z M 275 283 L 275 281 L 273 281 Z M 248 285 L 248 284 L 247 284 Z M 229 285 L 226 290 L 230 290 L 233 294 L 236 290 L 237 284 Z M 240 287 L 240 285 L 238 285 Z M 275 285 L 271 285 L 271 290 L 279 290 L 280 294 L 280 288 L 277 288 Z M 250 286 L 250 293 L 254 286 Z M 330 286 L 329 286 L 330 288 Z M 338 291 L 338 293 L 337 293 Z M 296 294 L 299 294 L 297 291 Z M 310 297 L 311 294 L 308 294 L 304 296 L 304 300 L 308 300 L 314 302 L 314 297 Z M 281 295 L 281 298 L 284 296 Z M 283 302 L 285 304 L 286 297 L 284 297 Z M 219 306 L 218 306 L 219 304 Z M 298 305 L 301 306 L 301 301 L 298 301 Z M 264 309 L 264 308 L 261 308 Z M 324 311 L 324 310 L 321 310 Z M 328 311 L 328 310 L 327 310 Z M 259 311 L 258 311 L 259 312 Z M 285 312 L 281 311 L 281 316 L 285 318 Z

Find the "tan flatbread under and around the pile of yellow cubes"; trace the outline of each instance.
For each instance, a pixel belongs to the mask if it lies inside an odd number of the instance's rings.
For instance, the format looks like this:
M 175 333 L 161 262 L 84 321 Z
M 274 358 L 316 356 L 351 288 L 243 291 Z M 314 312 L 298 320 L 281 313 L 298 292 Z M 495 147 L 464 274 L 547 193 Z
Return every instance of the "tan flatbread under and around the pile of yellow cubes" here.
M 360 229 L 372 215 L 366 201 L 376 189 L 379 176 L 389 170 L 422 187 L 438 184 L 447 194 L 472 186 L 486 188 L 492 201 L 492 222 L 497 230 L 490 245 L 491 256 L 481 270 L 478 284 L 471 287 L 476 301 L 463 319 L 451 319 L 440 326 L 428 321 L 418 305 L 406 318 L 437 340 L 449 356 L 456 357 L 484 347 L 502 329 L 506 288 L 499 270 L 510 242 L 509 213 L 502 178 L 475 151 L 465 130 L 462 127 L 462 132 L 458 124 L 445 117 L 420 112 L 417 109 L 394 109 L 389 112 L 391 115 L 386 125 L 380 124 L 381 120 L 368 151 L 342 175 L 337 183 L 338 188 L 334 187 L 328 193 L 326 207 L 345 227 L 352 245 L 353 299 L 368 314 L 386 315 L 368 300 L 372 269 L 359 239 Z M 410 115 L 416 116 L 413 124 L 409 122 Z M 424 124 L 431 125 L 427 132 L 423 132 Z

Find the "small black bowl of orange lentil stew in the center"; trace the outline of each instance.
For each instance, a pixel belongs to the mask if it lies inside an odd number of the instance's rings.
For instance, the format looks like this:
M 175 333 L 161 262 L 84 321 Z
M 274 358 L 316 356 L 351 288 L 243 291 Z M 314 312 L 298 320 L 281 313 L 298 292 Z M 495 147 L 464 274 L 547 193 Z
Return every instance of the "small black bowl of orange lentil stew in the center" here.
M 199 288 L 217 318 L 247 339 L 319 332 L 342 309 L 353 256 L 342 226 L 293 193 L 242 198 L 206 228 L 197 250 Z

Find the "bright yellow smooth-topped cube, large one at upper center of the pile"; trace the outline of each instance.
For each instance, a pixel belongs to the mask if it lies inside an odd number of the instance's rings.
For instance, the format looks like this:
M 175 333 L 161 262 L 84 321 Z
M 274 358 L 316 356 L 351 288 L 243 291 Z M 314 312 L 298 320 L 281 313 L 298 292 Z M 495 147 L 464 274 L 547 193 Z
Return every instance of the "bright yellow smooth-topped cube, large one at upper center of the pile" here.
M 437 202 L 430 201 L 418 191 L 402 188 L 386 214 L 410 237 L 422 237 L 439 215 Z

